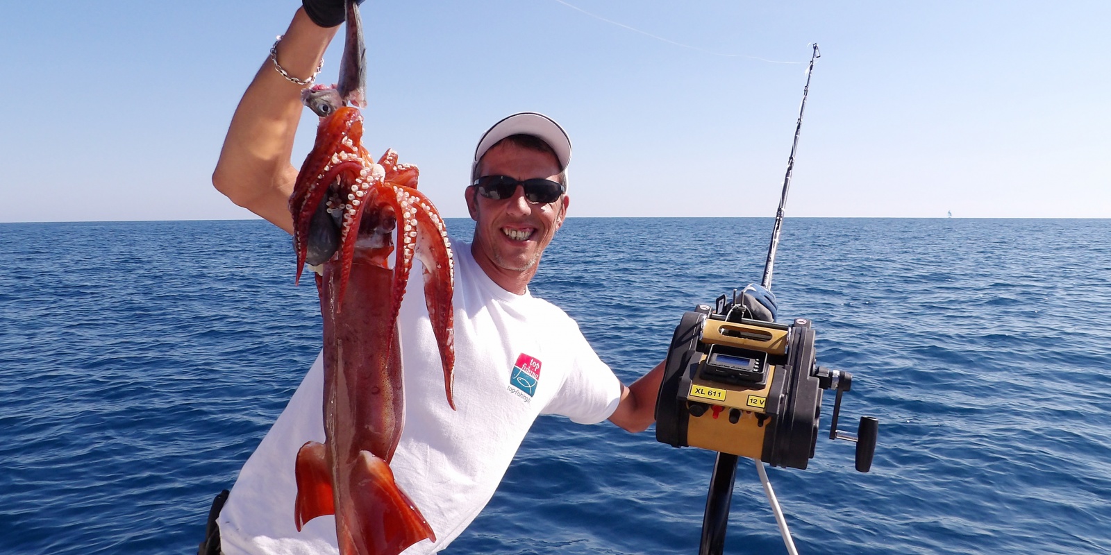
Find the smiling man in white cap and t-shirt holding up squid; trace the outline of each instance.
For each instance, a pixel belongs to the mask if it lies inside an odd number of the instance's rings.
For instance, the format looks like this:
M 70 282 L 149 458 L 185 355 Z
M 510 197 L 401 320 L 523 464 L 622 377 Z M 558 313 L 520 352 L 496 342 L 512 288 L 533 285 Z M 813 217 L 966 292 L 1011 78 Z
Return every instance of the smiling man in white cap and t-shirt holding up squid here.
M 276 44 L 272 63 L 266 62 L 243 94 L 212 178 L 233 202 L 287 232 L 292 231 L 287 203 L 297 178 L 290 153 L 304 83 L 298 78 L 318 68 L 336 32 L 324 26 L 342 21 L 319 17 L 318 3 L 306 2 L 314 17 L 298 10 Z M 391 467 L 437 536 L 436 543 L 419 542 L 407 554 L 434 553 L 462 533 L 490 500 L 539 414 L 580 423 L 609 420 L 631 432 L 654 421 L 663 364 L 624 386 L 567 314 L 528 291 L 567 216 L 570 157 L 563 130 L 537 113 L 498 122 L 476 149 L 464 190 L 474 239 L 471 245 L 452 243 L 457 411 L 443 398 L 421 287 L 410 286 L 402 303 L 406 428 Z M 219 536 L 202 544 L 202 553 L 221 547 L 229 555 L 337 551 L 330 518 L 311 521 L 301 532 L 293 527 L 293 460 L 304 442 L 323 440 L 321 390 L 318 357 L 243 466 L 227 505 L 213 507 Z

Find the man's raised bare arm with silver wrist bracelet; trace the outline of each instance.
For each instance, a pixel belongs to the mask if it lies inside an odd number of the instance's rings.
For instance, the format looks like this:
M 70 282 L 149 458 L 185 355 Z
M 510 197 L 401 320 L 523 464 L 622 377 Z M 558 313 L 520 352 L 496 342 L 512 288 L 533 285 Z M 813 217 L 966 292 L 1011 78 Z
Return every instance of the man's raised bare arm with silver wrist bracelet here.
M 318 27 L 297 10 L 278 44 L 279 64 L 296 78 L 312 75 L 337 29 Z M 268 56 L 236 108 L 212 173 L 212 184 L 232 202 L 290 233 L 288 202 L 297 180 L 290 155 L 302 88 L 282 77 Z

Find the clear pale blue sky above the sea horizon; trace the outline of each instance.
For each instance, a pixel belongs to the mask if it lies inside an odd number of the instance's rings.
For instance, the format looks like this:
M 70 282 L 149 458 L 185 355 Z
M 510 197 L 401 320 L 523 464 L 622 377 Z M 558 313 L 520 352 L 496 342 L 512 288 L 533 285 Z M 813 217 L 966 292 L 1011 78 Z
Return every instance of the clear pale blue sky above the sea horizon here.
M 1111 218 L 1111 2 L 567 2 L 368 0 L 367 147 L 466 216 L 479 135 L 534 110 L 571 216 L 768 216 L 817 41 L 789 216 Z M 6 4 L 0 221 L 251 218 L 210 174 L 299 6 Z

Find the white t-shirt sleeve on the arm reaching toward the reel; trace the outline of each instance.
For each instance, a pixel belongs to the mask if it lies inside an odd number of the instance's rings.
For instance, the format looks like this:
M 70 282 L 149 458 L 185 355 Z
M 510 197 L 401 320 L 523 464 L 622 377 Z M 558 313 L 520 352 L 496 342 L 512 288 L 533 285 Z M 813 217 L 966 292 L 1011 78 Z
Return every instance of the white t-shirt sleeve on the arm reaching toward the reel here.
M 559 414 L 579 424 L 597 424 L 609 418 L 621 401 L 621 381 L 598 357 L 577 324 L 565 340 L 570 354 L 568 373 L 559 392 L 542 414 Z

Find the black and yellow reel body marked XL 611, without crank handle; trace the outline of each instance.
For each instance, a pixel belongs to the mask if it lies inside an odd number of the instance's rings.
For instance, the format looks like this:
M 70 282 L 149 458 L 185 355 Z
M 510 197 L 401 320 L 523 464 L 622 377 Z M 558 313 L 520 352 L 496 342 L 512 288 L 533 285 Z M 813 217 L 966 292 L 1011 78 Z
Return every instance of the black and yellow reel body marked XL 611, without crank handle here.
M 739 320 L 708 305 L 683 315 L 660 385 L 655 437 L 805 468 L 822 403 L 810 321 Z

